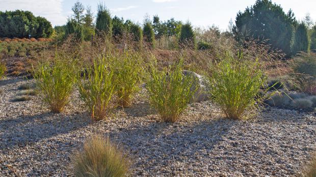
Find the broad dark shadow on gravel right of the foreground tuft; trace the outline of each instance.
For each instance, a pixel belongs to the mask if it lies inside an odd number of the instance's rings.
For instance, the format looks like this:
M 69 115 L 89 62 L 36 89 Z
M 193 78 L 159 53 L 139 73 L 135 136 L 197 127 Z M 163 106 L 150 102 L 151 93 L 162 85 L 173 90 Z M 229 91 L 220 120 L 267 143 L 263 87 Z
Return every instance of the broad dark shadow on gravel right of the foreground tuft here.
M 200 158 L 223 141 L 236 121 L 216 119 L 183 126 L 180 124 L 152 123 L 123 128 L 108 135 L 125 147 L 138 160 L 135 166 L 159 169 L 175 161 L 186 162 Z M 199 155 L 197 155 L 199 154 Z

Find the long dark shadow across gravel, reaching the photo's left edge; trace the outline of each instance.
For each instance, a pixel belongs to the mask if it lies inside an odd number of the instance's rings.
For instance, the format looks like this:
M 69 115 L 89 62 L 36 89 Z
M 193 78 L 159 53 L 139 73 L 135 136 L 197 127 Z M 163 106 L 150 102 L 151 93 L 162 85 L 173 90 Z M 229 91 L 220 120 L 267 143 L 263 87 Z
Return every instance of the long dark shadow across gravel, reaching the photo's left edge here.
M 66 134 L 88 126 L 86 114 L 62 115 L 51 112 L 0 121 L 0 149 L 25 146 L 44 138 Z

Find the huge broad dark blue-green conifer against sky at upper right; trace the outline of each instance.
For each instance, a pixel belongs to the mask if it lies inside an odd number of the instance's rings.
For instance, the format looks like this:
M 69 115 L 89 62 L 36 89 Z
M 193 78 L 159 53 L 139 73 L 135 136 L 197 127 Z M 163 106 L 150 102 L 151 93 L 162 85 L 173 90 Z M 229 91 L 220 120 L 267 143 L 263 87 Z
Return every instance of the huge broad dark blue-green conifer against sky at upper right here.
M 254 6 L 237 14 L 232 31 L 238 41 L 248 38 L 268 39 L 268 44 L 289 56 L 292 54 L 296 23 L 291 10 L 285 14 L 281 6 L 270 0 L 257 0 Z

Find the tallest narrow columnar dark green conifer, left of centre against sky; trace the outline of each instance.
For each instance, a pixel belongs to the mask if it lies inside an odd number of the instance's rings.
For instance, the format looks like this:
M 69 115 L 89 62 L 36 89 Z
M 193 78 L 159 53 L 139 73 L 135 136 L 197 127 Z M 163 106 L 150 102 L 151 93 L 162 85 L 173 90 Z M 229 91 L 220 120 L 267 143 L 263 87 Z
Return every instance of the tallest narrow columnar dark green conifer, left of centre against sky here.
M 98 13 L 96 18 L 95 30 L 96 34 L 106 34 L 112 35 L 112 18 L 110 11 L 106 8 L 106 6 L 99 4 L 98 5 Z

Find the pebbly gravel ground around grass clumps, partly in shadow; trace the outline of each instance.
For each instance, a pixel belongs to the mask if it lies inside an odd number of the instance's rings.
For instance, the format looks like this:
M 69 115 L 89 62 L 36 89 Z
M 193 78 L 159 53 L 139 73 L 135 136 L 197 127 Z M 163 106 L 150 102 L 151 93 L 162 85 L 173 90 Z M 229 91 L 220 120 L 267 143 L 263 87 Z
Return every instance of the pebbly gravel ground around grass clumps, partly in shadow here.
M 12 101 L 28 82 L 0 81 L 0 176 L 71 176 L 70 155 L 94 133 L 128 152 L 129 176 L 300 176 L 316 150 L 314 112 L 268 108 L 255 119 L 234 121 L 205 101 L 167 124 L 139 97 L 111 119 L 91 122 L 75 96 L 58 114 L 38 97 Z

